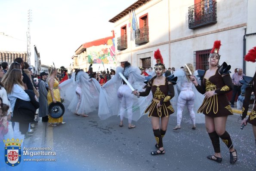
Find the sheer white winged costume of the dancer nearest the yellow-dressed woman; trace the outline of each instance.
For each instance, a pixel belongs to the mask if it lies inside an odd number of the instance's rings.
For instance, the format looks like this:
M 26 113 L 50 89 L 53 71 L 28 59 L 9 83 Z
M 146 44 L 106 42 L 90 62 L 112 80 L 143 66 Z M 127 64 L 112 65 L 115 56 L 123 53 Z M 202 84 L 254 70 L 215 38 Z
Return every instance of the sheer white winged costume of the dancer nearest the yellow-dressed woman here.
M 62 98 L 68 102 L 68 110 L 73 113 L 90 113 L 99 107 L 99 82 L 89 78 L 88 73 L 80 71 L 71 79 L 59 85 Z

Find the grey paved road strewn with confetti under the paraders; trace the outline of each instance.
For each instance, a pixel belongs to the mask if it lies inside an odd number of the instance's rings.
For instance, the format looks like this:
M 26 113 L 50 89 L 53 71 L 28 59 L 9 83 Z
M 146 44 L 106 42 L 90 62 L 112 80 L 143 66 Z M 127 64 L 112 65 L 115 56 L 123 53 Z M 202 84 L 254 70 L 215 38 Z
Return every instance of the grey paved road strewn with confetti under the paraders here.
M 240 131 L 237 115 L 229 116 L 227 131 L 232 140 Z M 192 130 L 189 116 L 184 116 L 182 129 L 173 131 L 176 116 L 170 116 L 167 134 L 163 138 L 165 155 L 151 156 L 156 150 L 150 118 L 142 116 L 134 129 L 128 129 L 128 121 L 119 127 L 119 117 L 100 120 L 97 112 L 89 117 L 75 116 L 66 111 L 66 124 L 55 128 L 39 122 L 33 137 L 25 140 L 23 147 L 49 147 L 56 156 L 22 156 L 25 159 L 56 159 L 56 162 L 24 162 L 6 168 L 6 171 L 253 171 L 256 164 L 255 141 L 252 127 L 241 131 L 234 143 L 238 153 L 235 165 L 229 163 L 229 153 L 222 163 L 210 161 L 213 153 L 210 138 L 204 124 Z M 221 144 L 222 155 L 227 150 Z M 31 150 L 31 152 L 36 152 Z M 2 168 L 3 171 L 5 171 Z

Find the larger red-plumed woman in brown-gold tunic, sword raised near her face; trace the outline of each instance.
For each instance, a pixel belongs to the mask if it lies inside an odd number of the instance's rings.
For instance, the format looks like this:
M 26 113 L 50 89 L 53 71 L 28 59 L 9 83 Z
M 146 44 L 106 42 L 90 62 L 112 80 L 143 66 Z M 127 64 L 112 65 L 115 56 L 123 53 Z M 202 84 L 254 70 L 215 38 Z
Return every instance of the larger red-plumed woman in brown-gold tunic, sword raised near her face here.
M 230 163 L 234 164 L 237 161 L 237 152 L 232 145 L 228 132 L 225 131 L 228 115 L 233 115 L 228 98 L 225 95 L 232 90 L 232 80 L 229 75 L 230 65 L 224 62 L 222 66 L 218 67 L 220 45 L 220 41 L 214 42 L 209 58 L 209 70 L 198 71 L 201 84 L 198 84 L 195 76 L 191 76 L 191 82 L 194 83 L 197 91 L 205 96 L 203 104 L 197 112 L 205 115 L 206 130 L 212 140 L 215 152 L 214 155 L 207 156 L 207 159 L 222 162 L 219 146 L 220 137 L 229 148 Z

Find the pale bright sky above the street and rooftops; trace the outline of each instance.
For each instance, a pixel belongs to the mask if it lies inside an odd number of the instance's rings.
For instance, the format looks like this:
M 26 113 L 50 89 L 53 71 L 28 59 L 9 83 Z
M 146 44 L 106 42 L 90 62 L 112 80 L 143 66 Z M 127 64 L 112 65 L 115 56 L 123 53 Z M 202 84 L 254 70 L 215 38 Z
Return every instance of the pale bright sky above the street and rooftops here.
M 0 32 L 26 43 L 31 9 L 31 65 L 36 45 L 41 64 L 69 67 L 83 43 L 112 36 L 108 21 L 136 1 L 0 0 Z

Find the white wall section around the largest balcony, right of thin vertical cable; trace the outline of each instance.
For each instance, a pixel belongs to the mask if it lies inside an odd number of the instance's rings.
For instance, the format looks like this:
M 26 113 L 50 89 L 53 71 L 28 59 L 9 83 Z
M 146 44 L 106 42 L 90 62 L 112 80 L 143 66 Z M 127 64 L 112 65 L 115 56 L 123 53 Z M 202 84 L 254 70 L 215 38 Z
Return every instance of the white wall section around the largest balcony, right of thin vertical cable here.
M 211 49 L 215 40 L 221 40 L 220 64 L 226 61 L 232 72 L 243 67 L 247 0 L 218 0 L 217 23 L 194 30 L 188 29 L 188 7 L 194 5 L 194 0 L 170 2 L 171 61 L 174 66 L 194 63 L 194 51 Z

